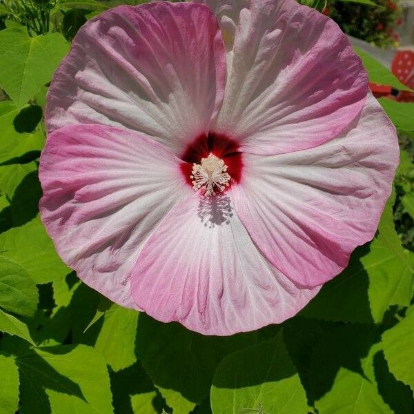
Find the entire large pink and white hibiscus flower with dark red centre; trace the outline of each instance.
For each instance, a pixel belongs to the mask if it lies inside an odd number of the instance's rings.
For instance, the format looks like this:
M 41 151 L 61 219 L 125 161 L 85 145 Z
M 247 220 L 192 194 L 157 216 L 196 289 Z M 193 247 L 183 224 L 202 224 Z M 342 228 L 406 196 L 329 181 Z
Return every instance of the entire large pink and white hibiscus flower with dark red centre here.
M 88 21 L 48 92 L 41 218 L 117 304 L 193 331 L 283 322 L 375 235 L 395 128 L 328 17 L 158 1 Z

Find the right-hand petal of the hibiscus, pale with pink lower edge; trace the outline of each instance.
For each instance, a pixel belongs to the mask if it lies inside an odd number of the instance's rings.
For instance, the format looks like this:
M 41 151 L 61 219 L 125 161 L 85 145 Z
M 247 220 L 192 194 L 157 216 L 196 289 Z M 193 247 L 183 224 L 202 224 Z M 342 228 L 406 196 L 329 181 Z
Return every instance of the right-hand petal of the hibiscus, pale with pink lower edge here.
M 398 152 L 395 128 L 370 94 L 333 141 L 291 154 L 244 154 L 235 210 L 276 268 L 297 286 L 318 286 L 374 237 Z

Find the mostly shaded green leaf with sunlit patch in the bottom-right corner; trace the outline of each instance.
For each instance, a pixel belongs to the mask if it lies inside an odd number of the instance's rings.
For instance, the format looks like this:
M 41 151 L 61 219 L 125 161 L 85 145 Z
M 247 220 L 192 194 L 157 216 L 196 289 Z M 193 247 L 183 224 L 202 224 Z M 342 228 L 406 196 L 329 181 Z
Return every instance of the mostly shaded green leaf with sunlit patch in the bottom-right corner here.
M 410 389 L 388 371 L 373 325 L 338 326 L 319 337 L 309 366 L 319 413 L 411 414 Z

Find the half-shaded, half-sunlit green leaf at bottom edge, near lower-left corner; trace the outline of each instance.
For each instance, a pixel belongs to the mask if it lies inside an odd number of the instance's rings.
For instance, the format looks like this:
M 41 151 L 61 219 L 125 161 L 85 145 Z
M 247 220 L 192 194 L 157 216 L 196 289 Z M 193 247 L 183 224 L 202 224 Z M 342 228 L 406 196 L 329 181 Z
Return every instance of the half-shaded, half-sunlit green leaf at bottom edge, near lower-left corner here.
M 16 363 L 21 414 L 113 413 L 106 364 L 93 348 L 39 348 L 20 355 Z

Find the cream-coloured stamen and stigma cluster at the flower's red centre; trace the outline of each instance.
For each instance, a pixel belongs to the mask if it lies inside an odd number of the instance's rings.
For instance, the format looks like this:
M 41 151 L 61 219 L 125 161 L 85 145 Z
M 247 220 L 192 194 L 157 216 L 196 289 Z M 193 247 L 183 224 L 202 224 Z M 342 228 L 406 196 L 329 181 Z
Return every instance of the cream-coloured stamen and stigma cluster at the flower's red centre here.
M 216 195 L 217 191 L 223 191 L 230 183 L 230 175 L 228 175 L 227 166 L 222 159 L 215 155 L 208 155 L 207 158 L 201 158 L 201 164 L 193 164 L 193 171 L 190 179 L 193 188 L 198 191 L 204 188 L 204 195 Z

